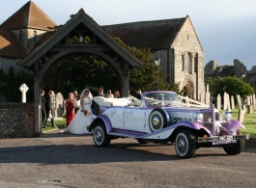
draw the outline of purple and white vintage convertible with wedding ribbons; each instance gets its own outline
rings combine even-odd
[[[244,140],[229,111],[220,116],[213,107],[168,91],[144,92],[141,98],[95,97],[99,116],[88,126],[98,147],[117,138],[134,138],[140,144],[174,143],[181,158],[191,158],[197,148],[222,147],[227,154],[242,152]]]

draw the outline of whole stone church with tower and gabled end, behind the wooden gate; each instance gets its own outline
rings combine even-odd
[[[54,26],[33,1],[27,2],[0,25],[0,69],[21,68],[17,63],[35,50],[37,42],[43,43],[43,36]],[[186,95],[204,100],[204,51],[189,16],[100,27],[129,46],[150,48],[170,85],[180,83]]]

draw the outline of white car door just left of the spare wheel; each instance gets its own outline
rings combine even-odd
[[[125,110],[125,127],[127,130],[146,130],[146,109],[139,107],[128,107]]]

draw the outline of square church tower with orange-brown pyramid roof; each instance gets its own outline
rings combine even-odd
[[[25,54],[28,54],[43,34],[56,25],[33,1],[29,1],[4,21],[0,25],[0,30],[6,30],[5,33],[12,32]]]

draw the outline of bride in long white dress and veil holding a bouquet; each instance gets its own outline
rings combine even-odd
[[[86,134],[89,133],[87,126],[93,121],[93,111],[91,104],[93,101],[93,95],[89,89],[84,89],[80,97],[80,108],[71,121],[70,125],[63,131],[72,134]],[[90,114],[85,116],[85,112],[90,111]]]

